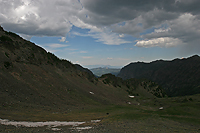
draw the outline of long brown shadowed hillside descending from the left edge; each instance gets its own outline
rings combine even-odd
[[[0,29],[1,109],[68,110],[85,105],[124,104],[128,93],[115,89],[98,82],[88,69]]]

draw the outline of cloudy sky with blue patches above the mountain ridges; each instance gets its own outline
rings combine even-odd
[[[200,55],[200,0],[0,0],[0,25],[85,67]]]

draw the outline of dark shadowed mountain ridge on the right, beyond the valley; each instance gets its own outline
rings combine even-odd
[[[169,96],[200,93],[200,57],[151,63],[131,63],[120,71],[123,79],[146,78],[159,83]]]

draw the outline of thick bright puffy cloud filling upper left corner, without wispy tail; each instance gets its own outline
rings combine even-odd
[[[6,18],[1,19],[0,24],[5,29],[20,34],[31,36],[65,36],[72,27],[68,18],[77,14],[80,3],[74,0],[66,0],[62,1],[62,4],[65,4],[63,6],[59,4],[61,1],[2,1],[0,12]]]

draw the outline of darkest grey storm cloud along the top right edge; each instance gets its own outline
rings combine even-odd
[[[199,13],[199,0],[81,0],[91,15],[88,23],[112,25],[141,16],[145,28],[175,19],[183,13]]]

